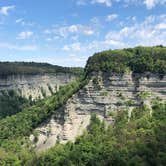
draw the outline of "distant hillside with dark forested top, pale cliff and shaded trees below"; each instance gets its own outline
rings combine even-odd
[[[82,73],[82,68],[47,63],[0,62],[0,119],[55,94]]]

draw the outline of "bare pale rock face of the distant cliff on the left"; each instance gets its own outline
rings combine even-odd
[[[74,80],[76,76],[68,73],[43,75],[12,75],[0,77],[0,90],[16,90],[25,97],[43,98]]]

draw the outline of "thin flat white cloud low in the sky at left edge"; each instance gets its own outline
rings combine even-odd
[[[16,50],[16,51],[35,51],[37,50],[36,45],[14,45],[9,43],[0,43],[0,48]]]

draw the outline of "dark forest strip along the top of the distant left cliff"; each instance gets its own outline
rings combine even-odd
[[[44,73],[71,73],[80,75],[83,69],[79,67],[61,67],[48,63],[35,62],[0,62],[0,76],[13,74],[44,74]]]

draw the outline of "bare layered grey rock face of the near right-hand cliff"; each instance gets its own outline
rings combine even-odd
[[[159,75],[132,73],[92,76],[88,85],[36,129],[39,134],[36,150],[48,149],[57,141],[74,141],[88,127],[93,112],[106,124],[112,124],[118,110],[128,110],[130,120],[135,106],[146,104],[150,109],[156,98],[166,101],[166,76],[162,79]],[[34,140],[33,135],[30,138]]]

